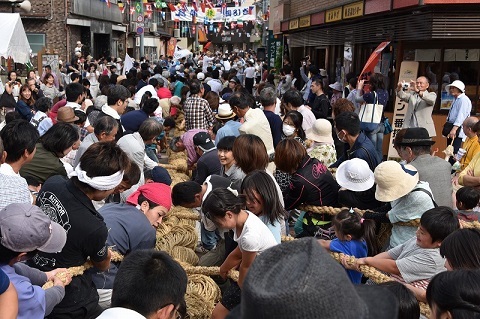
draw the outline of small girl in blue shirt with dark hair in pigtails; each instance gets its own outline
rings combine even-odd
[[[343,253],[355,258],[375,256],[378,252],[375,242],[375,222],[363,219],[353,209],[344,209],[333,218],[333,227],[337,238],[334,240],[320,239],[322,247],[337,253]],[[354,284],[360,284],[362,273],[347,270],[348,277]]]

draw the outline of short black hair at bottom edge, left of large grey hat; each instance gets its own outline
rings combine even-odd
[[[157,310],[185,301],[187,274],[166,252],[134,250],[120,264],[113,282],[112,307],[148,317]]]

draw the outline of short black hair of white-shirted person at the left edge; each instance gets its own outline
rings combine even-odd
[[[9,114],[9,113],[7,113]],[[7,163],[18,161],[25,150],[32,153],[39,138],[37,129],[25,120],[14,120],[2,129],[0,137],[7,152]]]

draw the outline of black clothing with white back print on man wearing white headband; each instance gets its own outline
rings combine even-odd
[[[38,197],[39,206],[51,220],[67,231],[67,242],[60,253],[37,253],[30,265],[42,271],[54,268],[81,266],[87,258],[101,262],[107,258],[107,227],[102,216],[95,210],[92,201],[72,181],[56,175],[42,186]],[[52,311],[68,314],[84,308],[89,317],[98,305],[98,293],[88,274],[75,276],[65,286],[65,298]]]

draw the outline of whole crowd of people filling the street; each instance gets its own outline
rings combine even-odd
[[[382,74],[368,89],[354,76],[329,83],[307,57],[298,89],[287,58],[275,75],[249,52],[123,67],[84,58],[80,43],[60,75],[46,66],[21,85],[9,73],[0,97],[0,317],[185,317],[186,273],[153,250],[172,205],[198,212],[199,265],[220,267],[214,319],[416,319],[418,301],[433,318],[480,315],[480,231],[459,222],[480,215],[480,122],[461,81],[447,86],[446,159],[432,155],[428,78],[396,86],[409,104],[397,162],[384,160],[384,123],[359,116],[365,105],[385,109]],[[186,152],[191,181],[171,187],[159,165],[167,148]],[[331,216],[304,205],[347,209]],[[380,243],[383,224],[392,229]],[[282,244],[289,235],[299,239]],[[111,261],[109,247],[125,260]],[[327,252],[356,262],[339,265]],[[84,274],[57,276],[87,260]],[[371,285],[362,265],[395,283]],[[226,279],[231,269],[238,282]],[[47,281],[53,287],[41,289]]]

